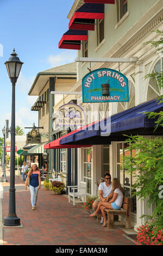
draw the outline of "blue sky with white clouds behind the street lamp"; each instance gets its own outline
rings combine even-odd
[[[28,96],[28,92],[38,72],[74,61],[76,51],[58,48],[62,35],[68,30],[67,15],[73,2],[0,1],[0,130],[5,119],[9,119],[11,125],[11,82],[4,63],[14,48],[24,63],[16,83],[16,125],[26,133],[29,130],[24,127],[38,125],[38,113],[30,111],[37,97]]]

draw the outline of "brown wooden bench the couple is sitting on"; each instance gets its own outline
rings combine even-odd
[[[124,197],[123,204],[121,210],[110,210],[105,209],[105,212],[108,215],[108,229],[113,228],[114,226],[114,216],[115,215],[125,215],[125,228],[131,228],[131,198],[130,197]],[[100,222],[101,215],[97,216],[97,222]],[[123,222],[118,222],[123,223]]]

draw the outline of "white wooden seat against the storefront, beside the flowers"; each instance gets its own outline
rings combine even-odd
[[[79,186],[67,186],[68,187],[68,202],[71,202],[71,197],[73,200],[73,205],[76,205],[76,200],[75,198],[81,198],[84,197],[84,200],[78,201],[78,203],[84,203],[86,202],[86,182],[80,181]],[[70,192],[70,188],[72,192]],[[77,192],[75,192],[77,190]]]

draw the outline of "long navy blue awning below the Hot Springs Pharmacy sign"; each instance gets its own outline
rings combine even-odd
[[[73,135],[67,136],[60,140],[60,144],[73,143],[91,143],[107,144],[109,141],[118,141],[123,137],[123,133],[156,135],[153,133],[155,119],[149,119],[144,112],[163,111],[163,102],[159,103],[158,99],[147,101],[126,111],[114,114],[109,118],[97,121],[84,130],[78,130]],[[109,120],[110,119],[110,120]],[[110,123],[111,121],[111,123]],[[108,127],[110,124],[110,128]],[[159,134],[163,135],[163,128],[158,129]],[[108,135],[109,132],[109,135]],[[156,131],[157,132],[157,131]],[[106,143],[105,143],[106,142]]]

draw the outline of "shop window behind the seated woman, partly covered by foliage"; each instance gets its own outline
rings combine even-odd
[[[134,192],[131,189],[131,186],[134,184],[134,178],[132,175],[127,174],[124,170],[123,164],[123,156],[134,154],[134,152],[130,152],[128,149],[128,144],[125,142],[117,142],[117,178],[120,180],[121,185],[124,188],[125,196],[131,197]],[[136,196],[131,197],[131,211],[136,214]]]

